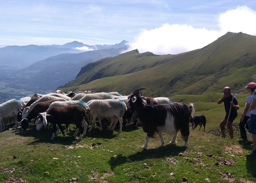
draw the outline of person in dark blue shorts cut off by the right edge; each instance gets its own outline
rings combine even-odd
[[[253,75],[256,76],[256,75]],[[254,155],[256,156],[256,89],[254,90],[252,94],[252,103],[249,108],[249,112],[251,113],[250,118],[248,120],[249,129],[248,132],[252,134],[252,145],[253,151],[251,153],[248,153],[248,155]]]

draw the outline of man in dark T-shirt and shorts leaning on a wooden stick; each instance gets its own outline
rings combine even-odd
[[[217,104],[221,104],[222,102],[224,102],[224,107],[225,107],[225,111],[226,111],[225,118],[220,123],[221,133],[222,133],[222,137],[223,137],[229,110],[231,108],[228,123],[227,123],[227,129],[228,129],[230,138],[233,139],[234,138],[233,121],[237,117],[237,110],[239,109],[239,105],[238,105],[236,97],[234,97],[233,102],[232,102],[233,96],[231,95],[231,89],[229,87],[225,87],[223,89],[223,93],[224,93],[223,97],[221,99],[219,99],[217,102]]]

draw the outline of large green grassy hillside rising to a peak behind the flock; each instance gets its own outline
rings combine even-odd
[[[255,74],[255,46],[256,36],[228,32],[202,49],[181,55],[145,56],[135,50],[87,65],[84,74],[59,89],[129,94],[144,87],[148,96],[207,94],[221,92],[224,86],[240,90]],[[87,81],[91,82],[83,84]]]

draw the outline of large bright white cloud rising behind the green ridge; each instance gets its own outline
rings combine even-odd
[[[129,43],[126,51],[138,49],[140,53],[150,51],[157,55],[178,54],[202,48],[228,31],[256,35],[256,11],[246,6],[220,14],[218,21],[219,30],[179,24],[163,24],[155,29],[142,30],[135,41]]]

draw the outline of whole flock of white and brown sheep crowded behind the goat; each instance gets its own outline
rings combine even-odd
[[[129,96],[122,96],[118,92],[67,92],[57,90],[54,93],[40,95],[35,93],[32,97],[21,99],[11,99],[0,105],[0,132],[8,129],[7,124],[14,122],[13,128],[21,126],[26,130],[29,123],[34,119],[36,129],[47,127],[49,123],[53,125],[53,136],[55,137],[56,126],[57,135],[61,131],[63,137],[65,133],[61,124],[66,125],[66,131],[69,124],[76,125],[74,137],[80,131],[79,141],[85,136],[88,122],[90,121],[90,132],[96,125],[96,118],[100,125],[100,131],[103,130],[101,120],[109,119],[108,130],[113,130],[120,123],[118,133],[122,132],[123,119],[126,118],[127,124],[132,118],[132,111],[129,105]],[[171,103],[167,97],[143,97],[144,104],[165,104]]]

